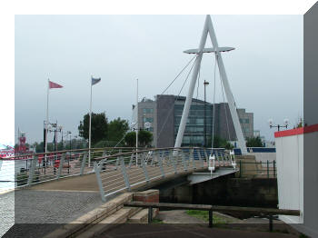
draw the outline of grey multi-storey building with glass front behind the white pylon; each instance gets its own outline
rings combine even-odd
[[[184,111],[184,96],[156,95],[154,100],[144,98],[138,103],[139,128],[146,129],[144,123],[151,124],[148,129],[154,135],[153,146],[172,147]],[[134,108],[134,107],[133,107]],[[215,111],[214,111],[215,109]],[[253,113],[237,109],[245,138],[253,137]],[[213,118],[214,114],[214,118]],[[235,141],[234,124],[226,103],[205,104],[206,144],[211,143],[211,134]],[[214,128],[213,128],[214,124]],[[193,99],[188,121],[185,126],[182,146],[204,145],[204,101]]]

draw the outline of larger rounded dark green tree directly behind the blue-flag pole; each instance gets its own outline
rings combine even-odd
[[[95,144],[107,137],[108,121],[105,113],[94,114],[92,113],[92,143]],[[88,139],[89,137],[89,114],[84,114],[83,121],[78,126],[79,136]]]

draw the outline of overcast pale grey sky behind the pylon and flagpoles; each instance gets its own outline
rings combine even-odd
[[[193,57],[183,51],[199,45],[204,17],[16,15],[15,134],[19,127],[27,142],[43,140],[48,77],[64,86],[50,90],[49,120],[73,135],[89,111],[92,74],[102,77],[93,87],[93,112],[131,120],[135,79],[140,99],[161,94]],[[273,140],[269,118],[280,124],[289,118],[293,125],[303,115],[303,15],[212,15],[212,20],[219,45],[235,47],[223,57],[236,105],[252,112],[254,130]],[[203,80],[214,80],[213,67],[214,55],[204,55],[201,99]],[[178,94],[184,78],[167,93]],[[187,90],[188,84],[182,94]],[[223,101],[219,86],[216,91],[217,102]]]

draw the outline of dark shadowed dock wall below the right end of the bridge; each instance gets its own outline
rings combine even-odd
[[[276,207],[276,179],[234,178],[233,174],[194,185],[160,186],[160,202]]]

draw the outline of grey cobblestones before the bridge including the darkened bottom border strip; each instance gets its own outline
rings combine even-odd
[[[101,205],[95,192],[15,191],[15,226],[4,237],[43,237]]]

